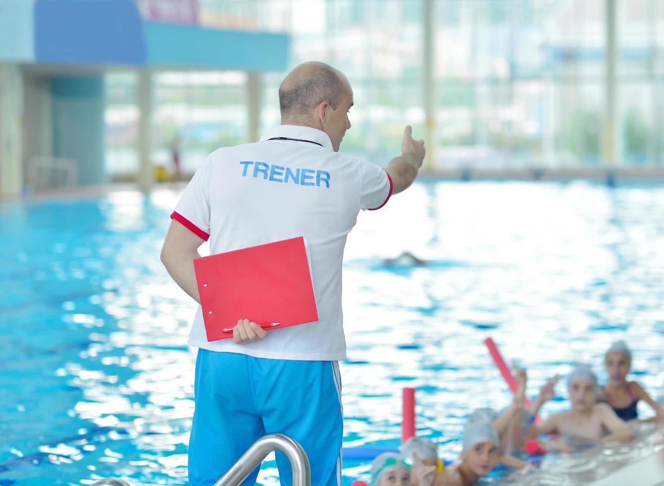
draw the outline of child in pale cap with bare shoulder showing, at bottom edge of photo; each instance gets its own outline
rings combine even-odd
[[[427,461],[428,459],[428,461]],[[438,458],[436,457],[436,460]],[[427,461],[425,463],[425,461]],[[463,434],[463,451],[454,464],[438,470],[432,457],[412,451],[412,486],[469,486],[500,461],[499,438],[491,424],[470,424]]]

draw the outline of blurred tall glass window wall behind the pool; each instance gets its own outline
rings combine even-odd
[[[438,173],[664,168],[661,0],[136,0],[136,6],[151,22],[289,38],[287,68],[253,78],[250,70],[209,66],[153,72],[150,157],[161,168],[157,179],[173,175],[175,165],[185,177],[216,147],[255,139],[252,123],[260,130],[279,123],[278,86],[305,60],[347,74],[355,106],[341,149],[378,164],[396,154],[410,123],[428,141],[427,168]],[[133,181],[141,165],[139,73],[119,67],[103,80],[104,173],[108,181]]]

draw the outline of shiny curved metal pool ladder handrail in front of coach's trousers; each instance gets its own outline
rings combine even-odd
[[[311,486],[307,453],[296,440],[285,434],[268,434],[258,439],[214,486],[239,485],[273,451],[281,452],[288,458],[293,471],[293,486]]]

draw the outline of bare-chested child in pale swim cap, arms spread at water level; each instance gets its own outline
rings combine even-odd
[[[560,412],[534,424],[530,437],[556,432],[588,444],[627,442],[633,434],[608,404],[598,403],[597,377],[589,366],[576,366],[568,379],[572,410]],[[605,434],[605,430],[608,434]]]

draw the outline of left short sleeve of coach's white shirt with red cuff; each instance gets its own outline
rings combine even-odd
[[[207,241],[210,238],[210,200],[208,197],[207,167],[209,159],[201,165],[185,188],[171,218]]]

